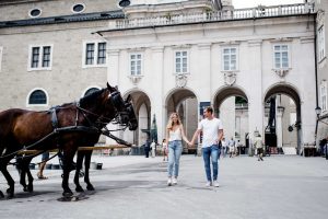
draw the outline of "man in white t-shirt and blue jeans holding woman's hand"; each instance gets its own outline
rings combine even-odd
[[[219,118],[213,116],[213,108],[208,106],[203,111],[204,118],[198,124],[198,128],[194,134],[190,145],[195,143],[195,140],[202,131],[202,158],[204,162],[204,170],[207,174],[207,186],[219,187],[218,174],[219,174],[219,158],[220,148],[219,142],[223,138],[223,126]],[[212,161],[213,177],[211,175]],[[212,182],[213,180],[213,182]]]

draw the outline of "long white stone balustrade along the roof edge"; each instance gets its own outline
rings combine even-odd
[[[285,4],[274,7],[257,7],[250,9],[236,9],[233,11],[203,12],[192,14],[162,15],[152,18],[125,19],[116,21],[115,28],[137,28],[145,26],[165,26],[186,23],[215,22],[229,20],[244,20],[272,16],[302,15],[314,13],[309,3]]]

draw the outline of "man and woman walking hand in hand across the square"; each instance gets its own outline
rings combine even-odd
[[[167,165],[167,185],[176,185],[179,172],[179,159],[183,152],[183,141],[185,140],[189,147],[194,146],[195,140],[202,132],[202,158],[204,161],[204,170],[207,175],[207,186],[219,187],[219,158],[220,141],[223,138],[223,127],[219,118],[213,116],[213,108],[208,106],[203,111],[203,119],[198,124],[198,128],[194,134],[191,141],[185,135],[184,126],[177,113],[169,116],[166,126],[166,143],[168,145],[168,165]],[[212,174],[211,165],[212,162]]]

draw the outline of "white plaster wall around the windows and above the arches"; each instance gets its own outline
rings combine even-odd
[[[194,24],[159,28],[104,32],[109,48],[119,48],[121,54],[130,49],[144,50],[144,77],[137,84],[143,89],[152,102],[152,112],[164,113],[163,100],[176,87],[174,51],[189,51],[190,73],[186,89],[192,91],[198,102],[212,101],[215,92],[224,88],[221,72],[221,49],[224,46],[238,47],[237,78],[234,87],[242,89],[249,103],[248,131],[258,129],[263,134],[263,96],[277,84],[289,84],[297,91],[302,101],[303,142],[314,141],[314,54],[312,23],[306,18],[279,18],[251,21]],[[270,27],[269,27],[270,26]],[[272,71],[272,45],[288,43],[291,47],[291,69],[280,78]],[[154,60],[154,47],[164,47],[163,65]],[[120,60],[124,59],[121,56]],[[160,59],[156,59],[160,60]],[[148,66],[150,65],[150,66]],[[153,76],[153,69],[163,66],[163,80]],[[120,64],[119,68],[127,68]],[[120,72],[120,83],[129,85],[126,73]],[[153,81],[156,83],[153,83]],[[160,89],[162,88],[162,89]],[[127,88],[128,89],[128,88]],[[161,96],[163,96],[161,101]],[[159,107],[157,105],[162,105]],[[154,110],[153,110],[154,107]],[[308,112],[308,113],[305,113]],[[163,118],[163,117],[162,117]],[[164,127],[164,124],[157,124]],[[248,132],[247,131],[247,132]]]

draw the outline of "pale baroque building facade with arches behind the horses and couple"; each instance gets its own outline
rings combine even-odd
[[[208,105],[226,138],[246,145],[258,131],[269,139],[271,124],[269,146],[301,153],[315,145],[313,3],[239,10],[231,1],[119,3],[2,1],[0,110],[47,110],[109,81],[132,96],[139,129],[118,135],[139,146],[153,117],[161,141],[175,111],[190,138]]]

